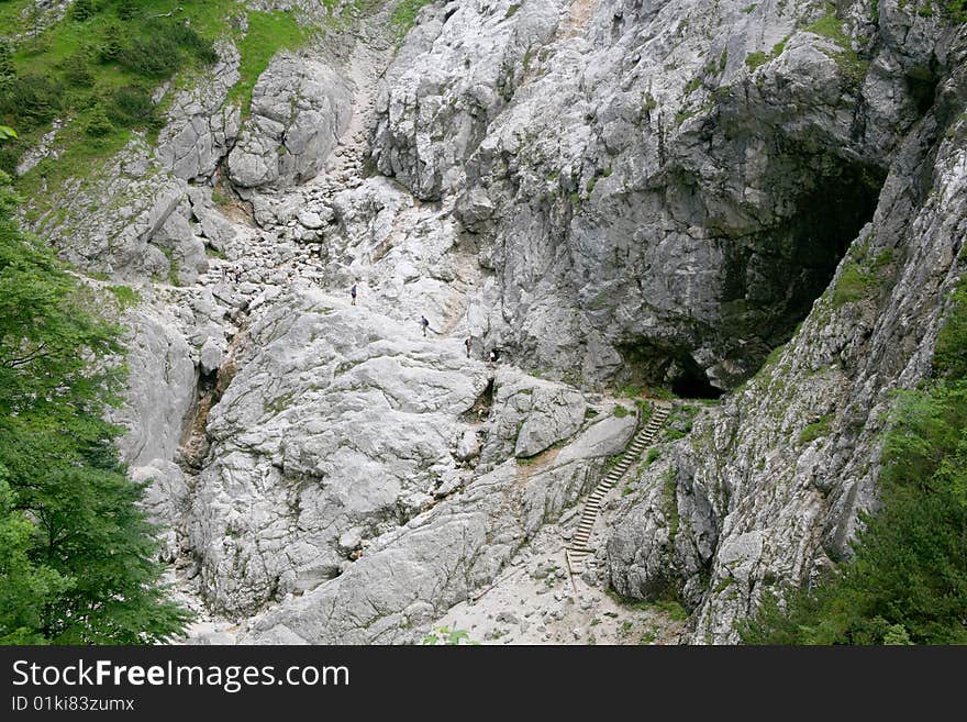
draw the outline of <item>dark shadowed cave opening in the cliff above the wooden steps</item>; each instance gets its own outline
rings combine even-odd
[[[722,238],[724,279],[718,322],[696,320],[690,327],[682,326],[679,337],[627,340],[618,346],[624,359],[615,378],[619,385],[718,399],[753,376],[771,351],[792,337],[872,219],[886,179],[880,168],[843,158],[823,157],[812,165],[822,170],[802,174],[801,157],[785,170],[776,169],[788,175],[798,168],[803,175],[805,188],[796,198],[791,218],[755,234]],[[718,356],[712,378],[694,360],[700,346],[713,348]]]

